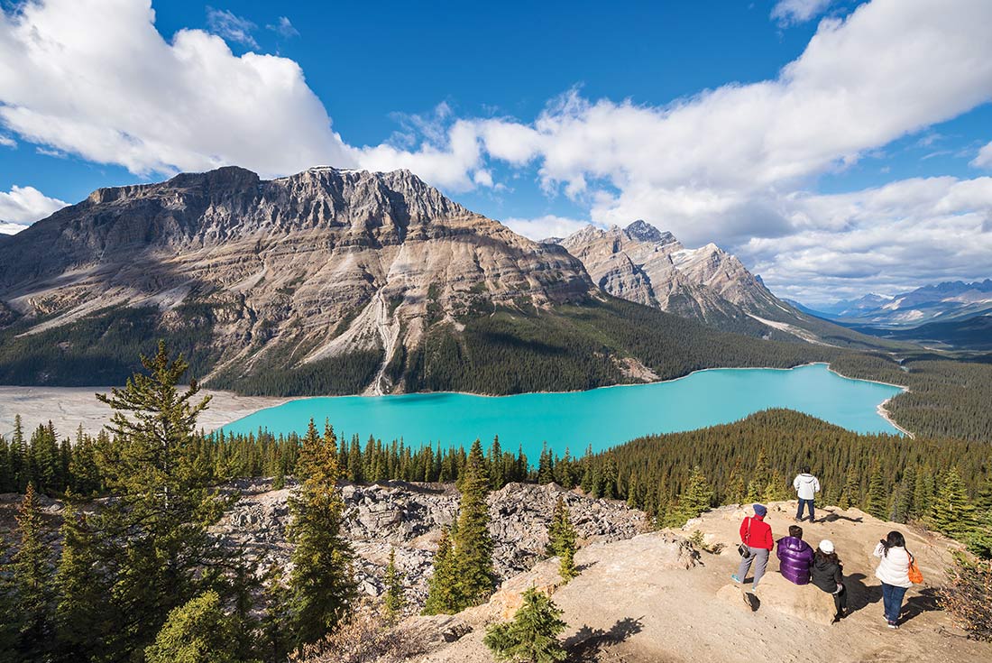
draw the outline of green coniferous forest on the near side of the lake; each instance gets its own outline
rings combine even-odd
[[[24,494],[16,525],[2,537],[0,640],[13,661],[165,661],[208,631],[217,650],[236,643],[217,660],[286,660],[332,631],[355,600],[352,553],[340,535],[341,480],[455,481],[469,491],[469,506],[512,481],[555,481],[625,500],[666,526],[719,504],[788,498],[792,476],[808,464],[824,503],[920,522],[992,557],[992,466],[977,403],[962,399],[960,420],[942,417],[936,405],[974,387],[988,365],[908,363],[909,372],[895,370],[913,376],[919,391],[906,395],[915,400],[902,412],[956,437],[860,435],[771,410],[598,454],[546,449],[528,459],[498,438],[470,451],[339,440],[331,422],[310,422],[305,436],[205,434],[196,415],[208,399],[195,383],[177,387],[188,366],[162,343],[144,359],[144,372],[102,398],[114,413],[109,430],[95,437],[52,424],[25,431],[18,421],[9,440],[0,438],[0,492]],[[884,369],[883,358],[869,355],[843,365],[848,373]],[[964,421],[974,427],[957,428]],[[288,575],[249,568],[212,545],[209,527],[227,499],[219,486],[257,476],[302,482],[291,504],[296,566]],[[43,516],[41,494],[65,500],[58,527]],[[477,604],[492,590],[486,521],[484,508],[463,510],[442,539],[429,611]],[[143,653],[135,659],[135,652]]]

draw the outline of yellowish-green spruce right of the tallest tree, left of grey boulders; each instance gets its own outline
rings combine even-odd
[[[304,481],[290,496],[293,521],[287,534],[295,546],[289,611],[299,647],[320,639],[346,618],[358,588],[352,569],[354,555],[344,534],[345,504],[337,487],[337,455],[317,435],[312,420],[297,465]]]

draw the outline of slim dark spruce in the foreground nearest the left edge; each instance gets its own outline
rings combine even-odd
[[[17,514],[21,545],[13,557],[15,614],[19,618],[17,650],[29,661],[44,660],[53,641],[51,552],[34,483],[28,483]]]

